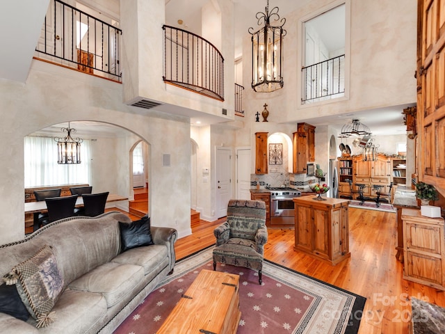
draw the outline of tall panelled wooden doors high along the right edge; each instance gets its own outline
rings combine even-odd
[[[419,180],[445,196],[445,0],[418,0]]]

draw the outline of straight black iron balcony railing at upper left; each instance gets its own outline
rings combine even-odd
[[[35,51],[38,58],[121,81],[122,31],[59,0],[51,0]]]

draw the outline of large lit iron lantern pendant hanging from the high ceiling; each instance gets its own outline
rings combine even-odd
[[[265,8],[266,13],[258,12],[258,25],[264,20],[264,27],[253,33],[253,28],[248,29],[252,35],[252,88],[255,92],[273,92],[283,88],[283,37],[286,31],[282,28],[286,23],[283,17],[280,20],[278,7],[272,8],[269,13],[269,0]],[[280,25],[271,26],[270,18],[275,22],[280,20]]]

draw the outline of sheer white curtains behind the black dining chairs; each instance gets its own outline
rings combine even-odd
[[[53,138],[24,138],[25,188],[91,181],[90,141],[81,144],[81,164],[57,164],[57,145]]]

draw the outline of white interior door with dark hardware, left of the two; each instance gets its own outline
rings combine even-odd
[[[230,187],[230,175],[232,168],[230,167],[230,159],[232,156],[231,148],[216,148],[216,164],[215,164],[215,201],[216,201],[216,218],[227,216],[227,205],[232,197]]]

